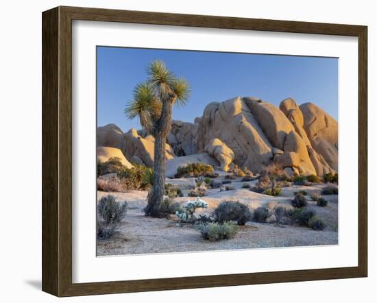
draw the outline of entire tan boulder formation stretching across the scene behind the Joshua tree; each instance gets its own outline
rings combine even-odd
[[[144,130],[98,128],[98,146],[117,147],[126,159],[152,166],[154,137]],[[166,175],[204,162],[224,171],[234,164],[260,173],[272,162],[287,172],[324,175],[338,169],[338,123],[311,103],[284,99],[279,108],[256,97],[211,102],[194,123],[172,121],[165,149]]]

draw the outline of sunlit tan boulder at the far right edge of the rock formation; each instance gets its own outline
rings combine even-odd
[[[338,123],[313,103],[300,105],[304,116],[304,129],[312,147],[328,163],[338,170]]]

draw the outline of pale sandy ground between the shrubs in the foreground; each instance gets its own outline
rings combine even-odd
[[[253,184],[253,182],[249,182]],[[206,197],[202,197],[208,203],[209,208],[204,212],[210,212],[224,199],[237,199],[247,203],[250,208],[264,205],[269,208],[280,204],[290,207],[291,197],[295,191],[305,190],[320,191],[322,184],[313,186],[289,186],[283,189],[281,197],[271,197],[254,193],[248,189],[241,189],[245,182],[232,182],[236,189],[233,191],[219,192],[219,189],[211,189]],[[338,243],[337,195],[327,195],[328,206],[321,208],[308,197],[308,204],[317,211],[321,219],[328,226],[326,230],[315,231],[311,228],[300,226],[276,226],[275,223],[248,222],[241,226],[234,239],[226,241],[210,242],[202,239],[195,225],[179,225],[175,216],[171,219],[154,219],[145,217],[143,208],[146,205],[146,191],[130,191],[129,193],[111,193],[119,201],[127,201],[129,206],[127,216],[121,222],[117,234],[108,241],[98,242],[98,254],[152,254],[163,252],[195,252],[208,250],[236,250],[261,247],[289,247],[306,245],[336,245]],[[98,192],[98,199],[108,193]],[[178,202],[193,200],[191,197],[176,198]]]

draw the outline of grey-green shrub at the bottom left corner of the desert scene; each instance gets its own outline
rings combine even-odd
[[[117,202],[114,196],[107,195],[99,200],[97,212],[106,224],[117,223],[127,213],[127,202]]]

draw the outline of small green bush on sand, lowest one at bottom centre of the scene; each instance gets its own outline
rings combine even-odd
[[[208,223],[201,227],[202,237],[209,241],[232,239],[237,231],[238,227],[233,222]]]

